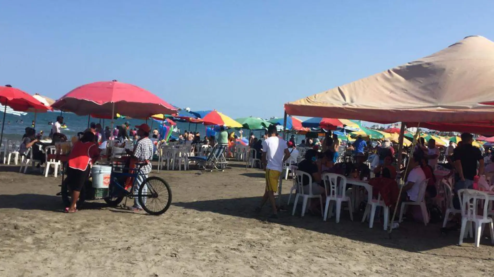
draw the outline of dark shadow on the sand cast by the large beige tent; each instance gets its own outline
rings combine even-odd
[[[288,200],[287,196],[283,197],[284,203]],[[255,218],[266,220],[269,215],[269,204],[263,208],[260,214],[254,212],[258,207],[261,197],[220,199],[198,202],[181,202],[173,203],[177,207],[195,209],[198,211],[216,212],[225,215],[232,215],[244,218]],[[293,203],[293,198],[292,198]],[[275,223],[306,229],[322,234],[330,234],[347,238],[354,241],[374,243],[385,247],[402,249],[410,252],[421,252],[431,249],[437,249],[455,244],[459,236],[459,231],[452,231],[448,235],[442,235],[440,232],[441,224],[428,224],[424,226],[415,222],[403,222],[400,228],[393,230],[391,236],[383,230],[383,224],[374,222],[373,229],[369,228],[369,223],[361,223],[362,211],[354,214],[354,221],[350,221],[348,210],[342,210],[339,223],[335,223],[334,217],[324,222],[321,216],[310,215],[306,213],[300,217],[301,204],[297,205],[294,216],[291,216],[293,205],[288,207],[288,212],[280,212],[280,219]],[[473,240],[468,239],[465,242]],[[491,259],[489,259],[491,260]]]

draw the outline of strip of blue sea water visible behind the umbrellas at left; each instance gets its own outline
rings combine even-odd
[[[36,125],[35,130],[39,133],[41,130],[43,131],[44,136],[48,136],[51,131],[51,125],[49,122],[55,122],[57,116],[60,115],[60,111],[58,112],[45,112],[45,113],[37,113],[36,114]],[[67,129],[62,129],[62,133],[65,134],[68,138],[76,135],[78,132],[84,131],[88,126],[88,116],[79,116],[75,113],[63,112],[62,116],[64,117],[64,123],[67,125]],[[3,112],[0,112],[0,124],[3,118]],[[13,139],[20,140],[22,135],[24,134],[24,130],[26,127],[31,127],[32,121],[35,120],[34,113],[27,113],[26,115],[16,116],[12,114],[5,115],[5,126],[3,129],[3,138],[4,139]],[[133,118],[118,118],[114,120],[114,127],[118,125],[122,125],[128,121],[130,126],[134,128],[135,125],[140,125],[142,123],[146,123],[146,120],[141,119],[133,119]],[[90,118],[89,122],[101,123],[103,126],[110,126],[110,119],[98,119],[98,118]],[[159,124],[162,122],[148,119],[147,124],[151,126],[154,130],[158,128]],[[195,123],[185,123],[185,122],[176,122],[177,128],[180,130],[180,133],[184,133],[187,131],[199,132],[201,137],[204,138],[206,136],[206,127],[203,124],[195,124]],[[248,137],[250,133],[254,133],[254,136],[259,138],[264,134],[264,131],[250,131],[250,130],[242,130],[243,136]],[[240,135],[239,130],[235,130],[237,136]],[[173,136],[178,136],[177,133],[173,133]],[[300,141],[303,138],[298,138]]]

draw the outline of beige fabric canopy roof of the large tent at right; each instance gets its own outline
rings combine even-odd
[[[494,125],[494,42],[468,36],[417,61],[285,104],[289,115]],[[425,126],[423,126],[425,127]]]

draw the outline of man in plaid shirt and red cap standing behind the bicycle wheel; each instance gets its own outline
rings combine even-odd
[[[151,132],[151,128],[147,124],[141,124],[139,126],[135,126],[135,128],[137,128],[137,136],[139,136],[139,139],[134,146],[131,158],[137,163],[146,163],[146,165],[141,167],[141,174],[136,177],[137,181],[132,188],[134,195],[137,195],[139,185],[146,180],[148,173],[151,172],[151,160],[153,159],[154,145],[153,141],[149,139],[149,132]],[[147,186],[144,186],[142,193],[145,194],[147,191]],[[134,198],[134,206],[129,207],[129,209],[134,211],[142,210],[141,204],[142,203],[139,203],[139,199],[136,197]]]

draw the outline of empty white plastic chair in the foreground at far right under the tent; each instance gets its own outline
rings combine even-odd
[[[473,189],[462,189],[463,194],[460,197],[461,200],[461,230],[460,230],[460,239],[458,245],[463,243],[463,238],[466,237],[465,229],[471,229],[471,224],[475,223],[475,247],[479,247],[480,237],[482,233],[484,233],[484,225],[486,223],[489,224],[490,232],[491,232],[491,243],[494,244],[494,224],[493,219],[488,217],[488,200],[489,196],[487,193],[473,190]],[[481,200],[484,202],[482,215],[478,215],[478,203],[477,201]]]

